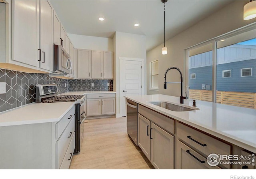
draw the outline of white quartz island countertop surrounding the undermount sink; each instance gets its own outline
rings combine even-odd
[[[199,110],[179,112],[171,111],[149,102],[166,101],[181,105],[180,97],[168,95],[128,95],[125,97],[256,153],[256,109],[196,100],[196,108],[199,108]],[[193,101],[184,100],[184,105],[192,107],[192,104]]]

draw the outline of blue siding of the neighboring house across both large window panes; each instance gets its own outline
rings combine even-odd
[[[252,68],[252,76],[241,77],[242,68]],[[256,59],[231,62],[217,65],[216,88],[218,91],[256,92]],[[222,78],[222,70],[231,70],[230,78]],[[191,80],[190,74],[196,74]],[[202,84],[212,86],[212,66],[189,69],[189,87],[191,90],[201,90]]]

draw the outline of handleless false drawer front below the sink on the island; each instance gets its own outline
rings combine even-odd
[[[156,111],[148,109],[142,105],[139,105],[138,111],[141,115],[150,119],[152,122],[156,123],[162,129],[168,131],[169,133],[174,134],[174,120],[173,119],[166,117],[165,115],[162,115],[160,113],[157,113]]]

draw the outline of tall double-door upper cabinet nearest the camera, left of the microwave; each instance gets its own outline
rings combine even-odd
[[[12,60],[52,71],[52,44],[53,8],[50,3],[12,1]]]

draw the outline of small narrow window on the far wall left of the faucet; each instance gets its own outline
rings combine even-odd
[[[158,90],[158,60],[150,62],[150,90]]]

